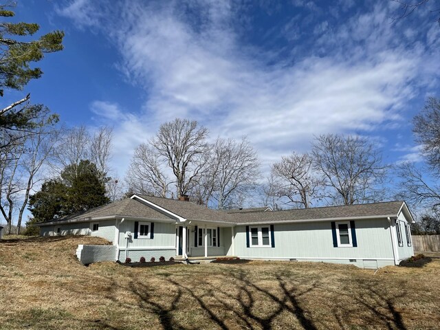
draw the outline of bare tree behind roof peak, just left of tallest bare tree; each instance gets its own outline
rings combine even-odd
[[[153,146],[140,144],[135,148],[131,164],[126,173],[129,190],[146,195],[166,197],[168,186],[173,182],[168,179],[166,159],[160,157]]]

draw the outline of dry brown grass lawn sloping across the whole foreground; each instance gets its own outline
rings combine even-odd
[[[96,237],[0,241],[0,329],[437,329],[440,261],[421,268],[252,261],[85,267]]]

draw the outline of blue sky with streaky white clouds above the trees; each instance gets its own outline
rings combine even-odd
[[[439,96],[430,1],[19,1],[17,21],[65,31],[32,93],[67,126],[114,126],[113,170],[162,122],[248,136],[267,170],[314,135],[359,134],[388,163],[420,160],[412,117]]]

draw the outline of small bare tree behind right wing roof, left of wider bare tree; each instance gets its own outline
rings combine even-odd
[[[313,157],[308,153],[292,153],[272,164],[271,171],[280,181],[278,197],[287,197],[288,202],[299,208],[309,208],[318,198],[323,181],[312,170]]]

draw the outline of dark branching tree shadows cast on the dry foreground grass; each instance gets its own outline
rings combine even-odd
[[[225,330],[239,326],[270,330],[285,325],[280,318],[291,316],[298,321],[292,328],[314,330],[336,324],[342,329],[366,326],[406,330],[401,313],[395,307],[395,301],[404,298],[404,294],[390,297],[379,283],[359,283],[359,289],[349,292],[344,290],[343,283],[341,289],[331,289],[319,281],[296,285],[292,276],[277,275],[270,278],[272,284],[260,285],[246,272],[237,270],[216,274],[216,281],[228,283],[228,288],[222,289],[210,283],[210,278],[195,283],[190,278],[172,274],[160,276],[165,285],[152,285],[137,276],[130,274],[129,281],[123,285],[113,282],[109,298],[116,303],[115,308],[136,307],[153,314],[163,329]],[[133,303],[118,299],[117,292],[113,291],[117,287],[131,292],[137,299]],[[333,315],[327,313],[327,319],[320,316],[318,309],[322,306],[312,305],[308,296],[313,292],[318,303],[325,302],[325,309],[333,311]],[[331,297],[328,302],[320,298],[325,294]],[[201,318],[193,318],[195,309],[201,311]]]

